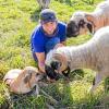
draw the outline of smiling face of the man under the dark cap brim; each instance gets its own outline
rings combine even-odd
[[[48,35],[52,35],[57,28],[57,22],[44,23],[43,28]]]

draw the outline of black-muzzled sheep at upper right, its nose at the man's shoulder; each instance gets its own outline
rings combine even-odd
[[[76,37],[78,35],[94,34],[104,26],[109,25],[109,0],[97,5],[94,12],[75,12],[66,24],[66,36]]]

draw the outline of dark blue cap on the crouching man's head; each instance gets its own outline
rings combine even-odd
[[[48,23],[57,21],[55,11],[50,9],[45,9],[40,12],[40,22]]]

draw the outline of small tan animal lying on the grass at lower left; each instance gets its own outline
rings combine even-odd
[[[3,77],[3,82],[9,85],[10,90],[15,94],[26,94],[37,85],[38,81],[43,78],[38,69],[34,66],[26,66],[24,70],[12,69]],[[38,88],[36,89],[38,93]]]

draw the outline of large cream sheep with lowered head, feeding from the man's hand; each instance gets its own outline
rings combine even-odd
[[[93,93],[101,80],[109,76],[109,26],[98,29],[94,37],[83,45],[51,50],[47,55],[45,64],[50,78],[56,78],[57,74],[68,66],[71,71],[76,69],[96,71],[90,88]]]

